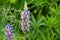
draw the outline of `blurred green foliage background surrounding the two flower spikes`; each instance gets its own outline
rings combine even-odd
[[[0,0],[0,40],[5,40],[7,23],[13,27],[14,40],[23,40],[21,11],[25,1],[30,11],[27,40],[60,40],[60,0]]]

